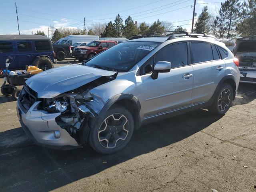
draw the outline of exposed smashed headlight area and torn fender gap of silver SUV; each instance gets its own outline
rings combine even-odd
[[[60,113],[55,118],[56,123],[82,146],[87,141],[92,123],[98,118],[105,104],[100,96],[92,94],[90,90],[114,80],[116,75],[117,73],[112,76],[102,76],[54,98],[43,98],[38,105],[38,110]]]

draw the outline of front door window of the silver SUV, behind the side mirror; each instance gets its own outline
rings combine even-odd
[[[188,64],[188,47],[186,42],[171,44],[156,53],[155,63],[158,61],[171,62],[172,68]]]

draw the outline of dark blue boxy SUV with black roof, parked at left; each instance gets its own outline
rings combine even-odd
[[[0,35],[0,69],[5,68],[8,56],[13,57],[9,70],[25,69],[26,65],[44,70],[53,68],[52,42],[46,36]]]

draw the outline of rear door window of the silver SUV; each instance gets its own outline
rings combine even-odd
[[[212,61],[212,45],[202,42],[191,42],[191,57],[193,63]]]

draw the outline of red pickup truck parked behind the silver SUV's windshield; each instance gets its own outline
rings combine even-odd
[[[92,41],[86,46],[78,46],[74,48],[73,56],[79,61],[88,60],[93,58],[96,54],[99,54],[100,52],[107,50],[116,44],[116,41],[110,40]]]

